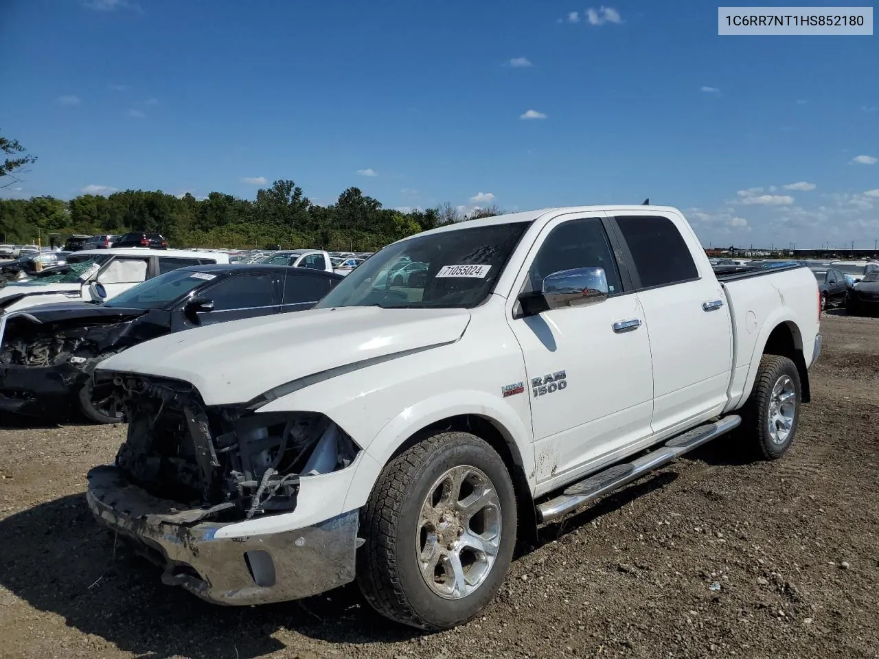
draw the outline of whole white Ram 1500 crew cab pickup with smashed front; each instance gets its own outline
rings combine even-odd
[[[392,286],[401,259],[426,276]],[[393,243],[314,310],[130,348],[99,521],[208,601],[357,580],[426,629],[477,615],[517,537],[723,433],[780,457],[821,348],[796,264],[718,280],[674,208],[581,206]]]

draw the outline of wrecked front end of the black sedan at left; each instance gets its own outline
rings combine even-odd
[[[165,318],[140,309],[96,315],[77,305],[46,307],[4,319],[0,411],[41,420],[67,418],[100,361],[168,331]]]

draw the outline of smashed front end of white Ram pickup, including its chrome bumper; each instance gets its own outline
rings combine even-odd
[[[313,412],[208,407],[180,380],[98,371],[96,385],[111,379],[127,439],[114,466],[91,470],[88,501],[163,568],[164,583],[251,605],[352,581],[358,511],[293,530],[280,517],[295,511],[304,479],[357,458],[360,447],[337,424]],[[268,524],[257,532],[234,528],[260,520]]]

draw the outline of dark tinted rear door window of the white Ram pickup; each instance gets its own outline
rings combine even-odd
[[[690,249],[671,220],[666,217],[618,217],[616,221],[628,243],[643,288],[699,277]]]

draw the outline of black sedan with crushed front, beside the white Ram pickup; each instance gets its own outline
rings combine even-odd
[[[120,421],[112,395],[95,389],[102,359],[184,329],[313,307],[343,279],[278,265],[197,265],[165,272],[103,303],[13,311],[0,337],[0,411],[60,420],[79,409]],[[97,284],[98,294],[104,286]]]

